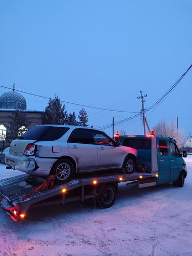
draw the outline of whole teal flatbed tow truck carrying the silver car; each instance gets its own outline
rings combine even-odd
[[[137,172],[87,173],[63,184],[54,184],[53,176],[44,179],[22,174],[0,180],[0,207],[12,220],[20,221],[30,208],[39,205],[93,199],[101,208],[111,207],[120,182],[137,183],[139,188],[170,182],[183,186],[187,170],[182,156],[186,157],[186,152],[175,153],[178,149],[173,139],[156,136],[120,136],[118,139],[122,145],[131,144],[138,150]]]

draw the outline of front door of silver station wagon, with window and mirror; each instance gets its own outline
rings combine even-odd
[[[92,136],[98,149],[98,168],[120,167],[122,152],[115,141],[101,131],[92,130]]]

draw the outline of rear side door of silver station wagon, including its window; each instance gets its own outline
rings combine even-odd
[[[76,160],[77,171],[97,169],[98,151],[89,129],[74,129],[67,144],[70,155]]]

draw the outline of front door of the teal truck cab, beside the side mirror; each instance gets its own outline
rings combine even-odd
[[[171,156],[171,182],[176,181],[180,175],[180,171],[182,168],[182,158],[180,155],[180,151],[177,145],[170,141],[170,156]]]

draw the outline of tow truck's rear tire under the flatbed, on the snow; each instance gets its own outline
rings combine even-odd
[[[111,207],[117,196],[116,187],[112,184],[107,184],[101,187],[99,191],[99,206],[101,208]]]

